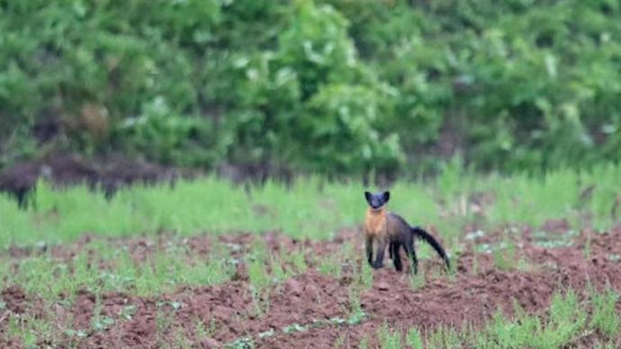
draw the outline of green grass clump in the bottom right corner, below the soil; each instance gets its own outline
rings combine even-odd
[[[619,320],[615,311],[617,294],[613,291],[592,292],[590,300],[578,300],[572,290],[554,294],[550,308],[544,315],[529,315],[516,306],[514,318],[505,317],[499,310],[483,328],[465,326],[437,327],[421,334],[412,327],[404,334],[405,342],[412,348],[541,348],[552,349],[575,345],[582,336],[598,330],[611,343],[617,340]],[[588,309],[592,310],[589,316]],[[399,347],[401,334],[384,325],[378,331],[383,347]]]

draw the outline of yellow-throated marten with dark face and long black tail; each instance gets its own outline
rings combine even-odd
[[[446,268],[450,268],[450,262],[444,248],[438,244],[434,237],[423,228],[411,227],[401,216],[386,210],[386,202],[391,197],[390,192],[365,192],[365,197],[369,203],[365,217],[366,258],[374,269],[383,266],[383,254],[388,245],[394,267],[401,272],[403,265],[399,256],[399,248],[403,246],[412,259],[412,271],[418,273],[419,261],[416,259],[416,251],[414,250],[414,237],[422,237],[434,247],[437,254],[446,262]],[[373,261],[374,241],[377,245],[375,262]]]

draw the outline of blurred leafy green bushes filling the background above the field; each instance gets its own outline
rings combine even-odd
[[[619,18],[617,0],[0,0],[0,166],[618,160]]]

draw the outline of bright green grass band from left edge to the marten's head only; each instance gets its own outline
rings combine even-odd
[[[268,182],[246,192],[225,180],[206,177],[193,182],[135,186],[111,201],[85,186],[53,190],[39,183],[31,209],[18,210],[0,195],[0,247],[58,244],[85,232],[130,236],[162,230],[182,235],[209,231],[283,229],[293,237],[331,237],[364,214],[363,188],[347,183],[307,179],[289,189]]]

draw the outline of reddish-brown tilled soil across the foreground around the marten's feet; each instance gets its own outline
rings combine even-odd
[[[563,224],[549,223],[547,228],[554,230],[554,235],[565,234],[559,226]],[[444,272],[436,255],[422,260],[419,269],[425,272],[426,282],[415,290],[408,275],[395,272],[390,261],[386,261],[383,269],[374,271],[371,288],[361,289],[360,302],[365,318],[355,325],[325,325],[326,321],[347,320],[351,315],[350,291],[356,288],[353,268],[363,263],[362,239],[356,229],[343,230],[337,238],[327,242],[299,241],[269,232],[260,238],[271,253],[304,250],[310,256],[334,255],[344,243],[352,241],[361,251],[360,258],[353,261],[354,264],[344,265],[340,278],[319,273],[310,258],[306,273],[275,285],[268,291],[267,298],[266,294],[258,293],[259,300],[263,300],[259,304],[268,304],[264,311],[257,311],[253,289],[243,268],[235,281],[210,287],[184,287],[157,297],[103,293],[101,311],[96,315],[100,320],[112,321],[103,321],[105,325],[96,330],[93,329],[94,320],[97,320],[94,318],[96,297],[92,292],[79,291],[76,299],[67,303],[69,305],[47,309],[48,317],[63,319],[59,321],[63,323],[59,328],[76,331],[73,335],[63,332],[61,339],[57,339],[60,343],[53,345],[151,348],[185,341],[193,347],[218,347],[248,337],[257,347],[325,348],[332,347],[338,340],[344,341],[347,347],[355,347],[363,338],[373,347],[377,344],[374,334],[384,322],[402,330],[419,327],[425,331],[440,325],[480,327],[497,309],[511,316],[514,300],[528,313],[545,314],[554,291],[572,287],[581,299],[587,297],[589,283],[596,289],[610,285],[621,291],[621,264],[617,262],[617,254],[621,253],[621,228],[606,234],[585,230],[572,237],[571,246],[556,248],[537,246],[528,231],[516,235],[524,237],[518,239],[521,247],[517,247],[515,255],[516,261],[526,262],[520,270],[500,270],[493,255],[475,253],[472,246],[466,244],[465,252],[454,261],[454,276]],[[53,255],[68,260],[93,238],[96,237],[84,237],[74,244],[54,247]],[[255,238],[257,236],[251,234],[229,234],[218,240],[239,246],[235,253],[243,255]],[[134,237],[108,242],[129,246],[131,255],[139,261],[166,246],[171,239],[174,243],[183,240],[162,235],[156,239]],[[486,242],[499,242],[489,240]],[[590,255],[585,257],[588,241]],[[208,255],[213,242],[206,236],[183,240],[189,252],[198,255]],[[3,252],[8,253],[20,258],[38,252],[15,248]],[[42,305],[37,295],[26,294],[19,285],[4,287],[0,300],[5,304],[4,309],[0,308],[0,346],[19,346],[14,338],[6,336],[9,319],[24,314],[43,314]],[[130,315],[127,315],[128,309],[132,309]],[[323,321],[324,326],[313,325],[313,321]],[[295,331],[295,326],[307,328]],[[293,331],[284,333],[285,327]],[[269,331],[274,332],[269,334]],[[589,346],[596,339],[597,334],[590,335],[582,339],[588,342],[576,345]]]

